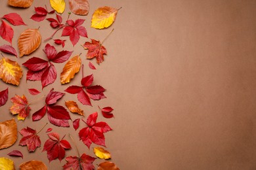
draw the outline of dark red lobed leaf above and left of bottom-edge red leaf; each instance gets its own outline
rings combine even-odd
[[[62,160],[65,156],[65,150],[70,149],[70,143],[64,140],[63,138],[60,140],[60,136],[58,133],[48,133],[47,134],[50,139],[48,139],[44,146],[43,151],[47,151],[47,158],[49,162],[58,158],[58,160]]]

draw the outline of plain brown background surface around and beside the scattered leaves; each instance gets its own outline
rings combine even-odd
[[[66,1],[67,2],[67,1]],[[27,26],[14,27],[13,46],[24,29],[37,28],[43,39],[53,33],[47,20],[37,23],[30,20],[33,7],[47,5],[49,1],[34,1],[29,9],[12,9],[6,1],[1,1],[1,16],[18,12]],[[113,107],[115,119],[106,120],[101,115],[98,121],[106,121],[114,131],[106,133],[106,146],[112,153],[120,169],[256,169],[256,1],[90,1],[85,27],[90,38],[104,42],[108,56],[101,65],[92,62],[97,70],[87,67],[86,50],[79,44],[88,41],[82,38],[75,48],[66,41],[66,50],[74,50],[72,56],[82,53],[85,75],[93,73],[95,84],[107,89],[107,99],[94,101],[93,107],[79,106],[85,110],[85,118],[100,107]],[[116,22],[104,30],[90,27],[93,11],[101,6],[122,7]],[[62,14],[64,20],[68,11]],[[52,16],[54,17],[54,16]],[[60,32],[55,38],[60,38]],[[68,39],[68,38],[64,38]],[[49,41],[53,44],[53,41]],[[1,45],[8,44],[1,39]],[[30,56],[14,58],[24,63],[32,56],[45,58],[40,48]],[[62,50],[60,46],[56,47]],[[55,64],[58,78],[54,84],[43,89],[47,94],[51,88],[63,92],[70,84],[78,85],[79,72],[70,84],[60,86],[59,74],[64,66]],[[14,94],[25,94],[29,101],[37,96],[28,93],[28,88],[41,90],[40,82],[26,82],[24,68],[20,86],[11,86],[0,81],[0,90],[9,87],[9,101],[1,107],[1,121],[13,118],[8,108]],[[58,101],[73,99],[75,95],[66,93]],[[32,113],[40,109],[44,101],[33,104],[30,117],[18,121],[18,129],[26,126],[41,129],[48,122],[45,116],[39,122],[32,122]],[[72,119],[79,118],[71,114]],[[15,117],[16,119],[16,117]],[[70,121],[70,124],[72,122]],[[85,125],[81,123],[81,127]],[[71,133],[80,153],[93,156],[93,150],[79,141],[78,130],[48,124],[40,133],[42,146],[48,139],[45,130],[53,127],[61,135]],[[42,160],[49,169],[61,169],[66,163],[58,160],[48,163],[46,152],[37,148],[28,154],[27,148],[18,146],[3,149],[0,156],[17,149],[23,152],[24,160],[11,158],[16,168],[23,161]],[[70,138],[66,139],[72,143]],[[74,144],[72,143],[74,147]],[[95,146],[94,144],[92,146]],[[68,150],[66,156],[76,155],[75,149]],[[101,160],[95,161],[96,163]]]

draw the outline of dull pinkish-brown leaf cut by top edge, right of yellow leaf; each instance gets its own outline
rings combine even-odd
[[[88,0],[69,0],[70,10],[77,15],[87,15],[89,12]]]

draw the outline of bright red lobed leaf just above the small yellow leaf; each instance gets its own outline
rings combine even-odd
[[[84,127],[79,131],[79,139],[90,148],[92,143],[105,146],[105,137],[104,133],[111,131],[111,127],[108,126],[106,122],[97,122],[98,113],[94,112],[90,114],[87,118],[88,127]]]

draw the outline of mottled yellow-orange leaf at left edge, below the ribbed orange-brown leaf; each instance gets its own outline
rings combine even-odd
[[[0,59],[0,78],[9,84],[18,86],[22,77],[22,68],[16,61],[8,58]]]

